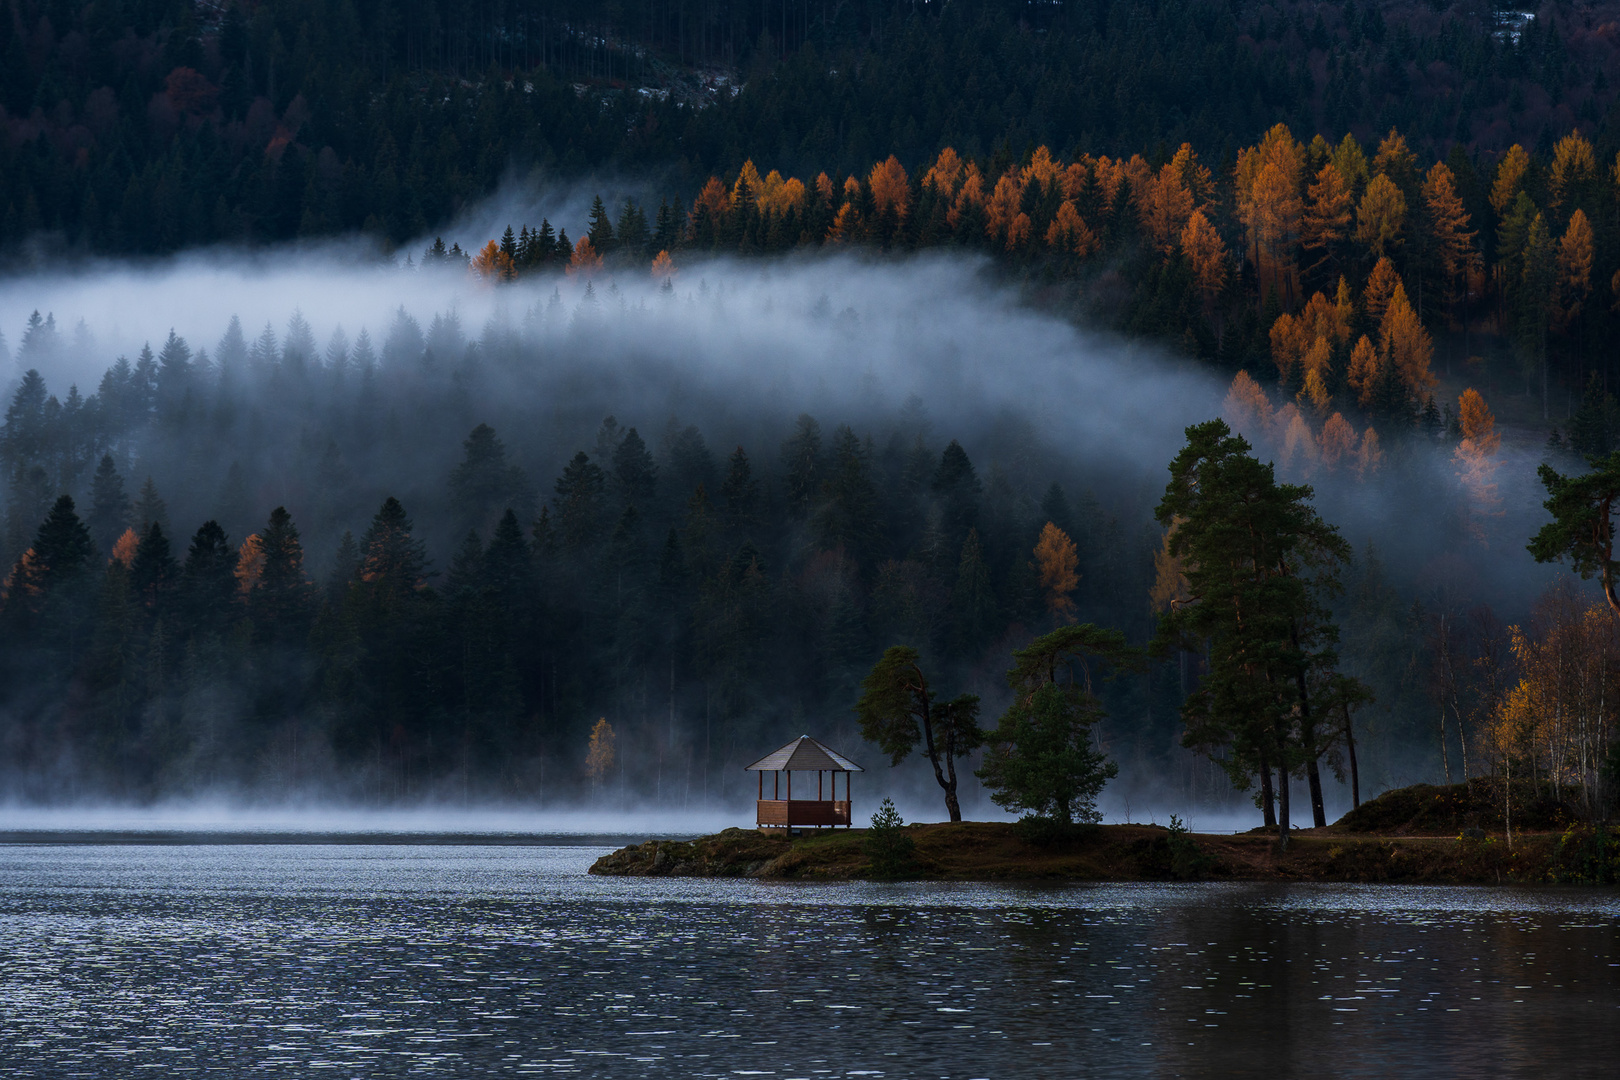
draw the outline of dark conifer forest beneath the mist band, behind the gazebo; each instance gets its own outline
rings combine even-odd
[[[1145,640],[1150,538],[1055,483],[1071,465],[987,470],[917,405],[862,431],[787,415],[747,445],[664,410],[595,439],[526,403],[471,423],[536,350],[593,355],[593,303],[476,342],[403,311],[376,343],[232,322],[87,397],[31,369],[0,437],[11,790],[543,797],[606,716],[632,776],[697,800],[784,721],[854,743],[894,641],[993,695],[1050,623],[1047,521],[1077,544],[1077,610]],[[24,361],[71,348],[52,334]],[[1144,695],[1173,691],[1119,699],[1142,729]],[[1173,709],[1132,738],[1168,753]]]

